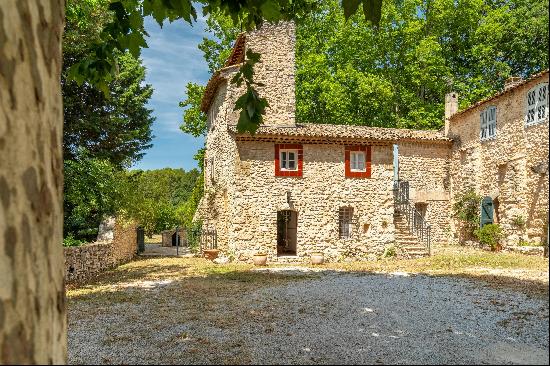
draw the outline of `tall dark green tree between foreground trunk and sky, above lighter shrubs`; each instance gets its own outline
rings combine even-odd
[[[89,55],[112,19],[106,0],[68,0],[63,35],[61,75],[65,159],[85,148],[95,158],[117,167],[130,166],[151,146],[154,117],[146,107],[153,88],[145,84],[145,67],[129,53],[116,52],[118,73],[108,84],[108,96],[88,83],[67,79],[68,70]]]

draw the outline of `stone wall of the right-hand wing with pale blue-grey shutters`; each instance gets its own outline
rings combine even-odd
[[[449,137],[455,140],[451,160],[451,194],[469,188],[497,200],[496,218],[508,245],[521,241],[540,243],[545,237],[548,214],[548,174],[532,169],[548,164],[548,118],[525,125],[529,89],[548,82],[548,73],[509,90],[498,98],[477,105],[450,120]],[[496,106],[496,137],[480,140],[480,113]],[[521,216],[525,227],[514,224]],[[458,223],[453,223],[456,232]]]

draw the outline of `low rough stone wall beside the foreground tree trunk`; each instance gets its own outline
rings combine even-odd
[[[136,256],[136,225],[116,224],[111,242],[64,248],[65,281],[80,282],[128,262]]]

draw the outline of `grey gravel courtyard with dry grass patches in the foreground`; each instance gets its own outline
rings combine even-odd
[[[548,298],[490,281],[140,262],[69,291],[69,363],[549,362]]]

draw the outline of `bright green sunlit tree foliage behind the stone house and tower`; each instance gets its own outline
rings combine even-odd
[[[384,2],[377,28],[346,20],[326,0],[297,22],[296,119],[301,122],[437,129],[444,96],[465,107],[502,89],[509,76],[548,68],[548,1]],[[213,71],[238,29],[207,20],[214,38],[199,48]],[[188,84],[182,130],[200,126],[201,86]]]

